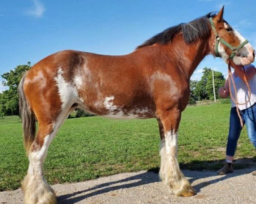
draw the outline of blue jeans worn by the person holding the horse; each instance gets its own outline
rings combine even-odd
[[[256,103],[250,108],[240,111],[243,123],[247,126],[247,133],[250,141],[256,148]],[[242,127],[236,107],[230,111],[230,128],[227,139],[227,156],[234,156],[236,152],[237,141],[239,139]]]

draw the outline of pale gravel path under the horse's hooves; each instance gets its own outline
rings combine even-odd
[[[217,176],[212,171],[183,170],[198,194],[170,195],[158,174],[139,171],[95,180],[56,184],[58,204],[256,204],[256,166]],[[20,189],[0,192],[0,204],[22,204]]]

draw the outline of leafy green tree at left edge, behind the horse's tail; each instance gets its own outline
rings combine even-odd
[[[17,88],[22,74],[30,68],[30,62],[28,62],[27,65],[17,65],[14,70],[1,75],[1,77],[5,79],[2,84],[8,86],[9,89],[0,94],[0,113],[7,116],[19,114],[19,96]]]

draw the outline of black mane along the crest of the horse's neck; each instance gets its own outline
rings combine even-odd
[[[183,39],[187,44],[194,42],[198,38],[207,37],[210,34],[209,18],[214,16],[215,12],[210,12],[209,14],[192,20],[189,23],[180,23],[177,26],[167,28],[163,32],[146,40],[142,45],[139,45],[137,49],[153,45],[154,43],[167,44],[180,32],[182,32]]]

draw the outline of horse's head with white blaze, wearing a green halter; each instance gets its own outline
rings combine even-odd
[[[212,53],[225,62],[235,65],[247,65],[254,61],[255,51],[252,45],[223,19],[224,6],[210,20],[212,25]]]

